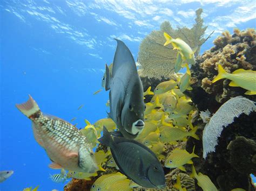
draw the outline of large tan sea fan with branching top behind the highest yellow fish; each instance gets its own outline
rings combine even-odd
[[[170,34],[172,38],[181,38],[188,45],[198,47],[196,54],[200,51],[200,46],[205,42],[203,38],[207,27],[203,27],[201,18],[202,9],[196,11],[196,24],[191,29],[187,27],[173,29],[169,22],[164,22],[159,31],[152,31],[140,44],[138,61],[141,65],[141,75],[148,77],[161,76],[170,77],[173,75],[173,69],[176,62],[177,51],[173,50],[171,45],[163,46],[165,38],[164,32]]]

